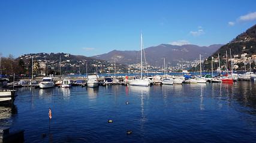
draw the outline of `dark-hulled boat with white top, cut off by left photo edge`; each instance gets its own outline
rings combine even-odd
[[[0,104],[5,104],[5,103],[13,103],[16,96],[15,95],[16,90],[9,90],[9,89],[4,89],[3,91],[0,91]]]

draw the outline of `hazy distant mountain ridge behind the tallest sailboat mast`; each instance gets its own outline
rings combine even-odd
[[[158,46],[150,46],[144,49],[143,58],[146,57],[146,62],[150,66],[161,66],[163,59],[165,63],[174,66],[180,61],[194,61],[199,59],[201,54],[202,58],[207,58],[213,52],[218,50],[222,45],[215,44],[210,46],[197,46],[197,45],[169,45],[161,44]],[[145,56],[144,56],[145,55]],[[140,63],[140,50],[139,51],[118,51],[113,50],[107,54],[96,55],[93,58],[100,60],[114,61],[122,64],[135,64]]]

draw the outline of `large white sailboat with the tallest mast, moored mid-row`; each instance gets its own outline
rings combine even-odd
[[[136,86],[149,86],[149,79],[143,78],[142,76],[142,34],[140,34],[140,77],[135,76],[134,79],[129,80],[129,85]]]

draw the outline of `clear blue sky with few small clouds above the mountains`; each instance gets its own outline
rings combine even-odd
[[[74,55],[161,43],[225,44],[256,24],[256,1],[0,1],[0,53]]]

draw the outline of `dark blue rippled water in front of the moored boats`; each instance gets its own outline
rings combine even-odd
[[[13,107],[0,107],[0,124],[25,129],[25,142],[256,141],[256,82],[22,88],[17,94]]]

